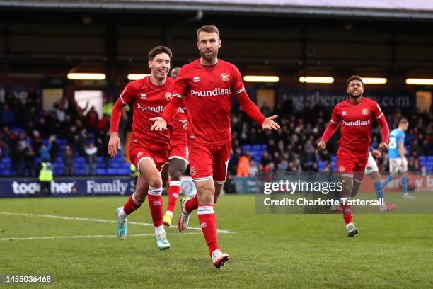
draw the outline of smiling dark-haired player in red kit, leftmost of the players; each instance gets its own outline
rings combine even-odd
[[[112,110],[111,137],[108,154],[115,157],[120,149],[117,135],[123,106],[132,103],[133,122],[129,158],[139,170],[136,191],[123,207],[116,210],[118,225],[117,237],[127,237],[127,216],[142,205],[148,195],[149,207],[154,222],[158,249],[170,249],[163,227],[162,179],[159,172],[165,164],[170,151],[170,135],[167,131],[151,131],[153,124],[149,118],[160,116],[173,91],[174,79],[167,77],[170,69],[171,50],[158,46],[149,51],[151,76],[127,84]]]

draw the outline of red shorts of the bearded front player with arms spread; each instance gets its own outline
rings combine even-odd
[[[192,181],[214,180],[224,183],[230,159],[231,142],[223,145],[188,145]]]

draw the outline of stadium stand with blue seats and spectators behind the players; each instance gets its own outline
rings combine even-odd
[[[38,164],[45,159],[50,159],[54,164],[54,176],[67,175],[67,147],[73,151],[74,157],[70,165],[74,176],[129,174],[129,163],[125,157],[118,154],[116,158],[109,159],[106,154],[109,115],[99,119],[92,110],[83,115],[83,109],[66,98],[54,103],[52,110],[43,111],[40,96],[33,90],[29,91],[25,103],[13,91],[8,91],[0,105],[0,176],[36,176]],[[317,118],[311,118],[311,110],[316,111]],[[20,113],[21,111],[30,113]],[[263,132],[244,113],[233,113],[230,174],[236,174],[241,154],[255,159],[260,171],[335,170],[338,137],[334,137],[328,145],[331,154],[319,153],[316,149],[328,122],[329,111],[321,106],[306,107],[297,113],[288,113],[282,111],[282,108],[279,111],[262,108],[262,111],[265,114],[278,113],[282,130]],[[68,117],[64,118],[63,115]],[[396,128],[401,115],[398,109],[387,113],[390,128]],[[410,170],[433,171],[432,113],[405,116],[410,120],[405,143],[410,153]],[[130,128],[130,119],[131,115],[125,114],[122,120],[125,125],[120,127]],[[121,134],[125,139],[127,130],[122,130]],[[372,147],[377,147],[378,140],[379,130],[374,127]],[[91,157],[86,154],[86,148],[91,144],[97,149],[94,170],[89,164]],[[387,166],[387,158],[381,158],[380,170],[386,170]]]

